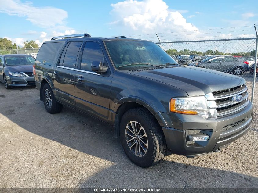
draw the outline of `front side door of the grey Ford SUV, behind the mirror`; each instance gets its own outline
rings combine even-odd
[[[112,76],[109,69],[104,74],[93,72],[93,61],[108,66],[100,43],[86,41],[75,73],[76,108],[107,122]]]

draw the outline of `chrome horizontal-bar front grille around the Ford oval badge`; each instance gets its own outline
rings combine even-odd
[[[212,116],[223,116],[234,113],[248,105],[248,92],[245,84],[220,91],[214,91],[206,98],[211,109]],[[234,95],[242,95],[238,102],[232,101]]]

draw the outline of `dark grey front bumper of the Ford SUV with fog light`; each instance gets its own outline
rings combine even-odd
[[[162,130],[167,148],[172,153],[193,157],[220,151],[221,148],[244,135],[249,130],[253,118],[253,105],[249,102],[244,109],[236,113],[209,119],[198,115],[166,114],[163,113],[163,117],[169,127],[162,127]],[[235,123],[239,124],[233,127]],[[229,129],[226,130],[225,127]],[[187,141],[187,133],[197,130],[209,135],[209,140]]]

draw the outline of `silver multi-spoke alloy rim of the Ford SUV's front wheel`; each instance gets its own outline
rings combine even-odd
[[[134,155],[142,157],[148,150],[148,139],[144,128],[137,121],[130,121],[126,125],[125,138],[128,147]]]

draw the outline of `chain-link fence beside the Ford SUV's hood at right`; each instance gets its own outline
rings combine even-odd
[[[217,39],[199,41],[157,42],[177,63],[237,75],[246,80],[249,99],[258,105],[257,81],[254,73],[257,63],[257,38]]]

